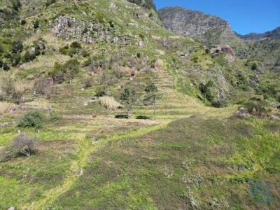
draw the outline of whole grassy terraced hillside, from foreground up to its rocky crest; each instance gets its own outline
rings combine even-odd
[[[15,14],[0,19],[0,209],[279,207],[276,71],[211,55],[127,1],[0,6]],[[120,119],[125,88],[138,103]],[[274,118],[233,117],[250,98]],[[36,139],[29,157],[9,156],[19,134]]]

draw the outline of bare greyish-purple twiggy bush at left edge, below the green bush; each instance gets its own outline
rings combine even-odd
[[[13,139],[10,146],[3,148],[1,151],[0,162],[22,155],[29,157],[34,153],[35,147],[36,140],[33,137],[28,137],[26,134],[20,134]]]

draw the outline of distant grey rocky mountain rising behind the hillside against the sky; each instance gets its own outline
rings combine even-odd
[[[165,7],[158,10],[158,13],[165,27],[176,34],[213,44],[237,40],[230,24],[214,15],[183,7]]]

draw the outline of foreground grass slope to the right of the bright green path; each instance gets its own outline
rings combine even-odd
[[[279,132],[267,130],[267,123],[280,126],[197,116],[141,137],[113,139],[91,156],[85,174],[54,206],[179,209],[192,208],[195,200],[200,209],[209,203],[274,209],[280,202],[276,191],[272,203],[257,202],[248,191],[250,180],[275,187],[279,182]]]

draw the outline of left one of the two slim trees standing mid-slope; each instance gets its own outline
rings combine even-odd
[[[138,102],[137,94],[136,94],[135,90],[132,90],[132,89],[126,87],[123,90],[123,92],[120,94],[120,101],[126,107],[126,109],[127,109],[127,117],[130,118],[132,108]]]

